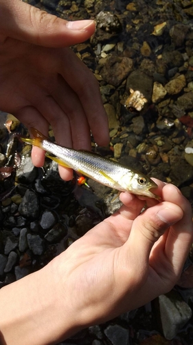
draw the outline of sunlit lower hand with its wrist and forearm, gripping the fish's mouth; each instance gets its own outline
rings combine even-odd
[[[155,182],[162,202],[122,193],[114,215],[0,290],[2,345],[57,344],[174,286],[192,244],[192,209],[178,188]]]

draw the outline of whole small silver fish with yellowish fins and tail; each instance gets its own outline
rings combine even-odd
[[[21,137],[21,140],[26,144],[42,148],[46,151],[47,157],[61,166],[72,168],[79,174],[120,192],[159,199],[158,195],[150,191],[157,188],[157,184],[143,173],[102,157],[95,152],[75,150],[55,144],[35,128],[30,128],[30,132],[34,138]]]

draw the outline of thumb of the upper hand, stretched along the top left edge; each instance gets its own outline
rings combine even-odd
[[[0,2],[0,32],[5,37],[54,48],[85,41],[94,31],[93,20],[65,21],[21,0]]]

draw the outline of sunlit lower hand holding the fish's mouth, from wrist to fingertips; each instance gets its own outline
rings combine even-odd
[[[177,187],[155,181],[162,202],[122,193],[120,210],[52,262],[63,305],[76,310],[80,327],[142,306],[179,279],[193,238],[192,210]]]

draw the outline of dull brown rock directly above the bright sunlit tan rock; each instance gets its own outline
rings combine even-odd
[[[134,91],[139,90],[148,102],[151,101],[152,98],[152,77],[149,77],[141,70],[134,70],[130,73],[126,80],[126,90],[127,92],[131,89]]]

